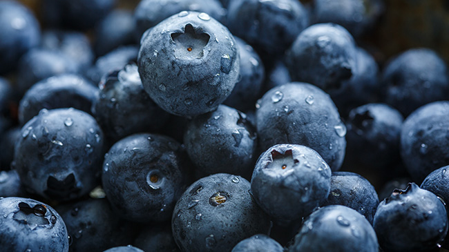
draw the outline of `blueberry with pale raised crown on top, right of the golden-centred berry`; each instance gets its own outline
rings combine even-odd
[[[298,220],[312,213],[330,189],[331,171],[316,151],[278,144],[260,155],[251,177],[254,200],[276,221]]]

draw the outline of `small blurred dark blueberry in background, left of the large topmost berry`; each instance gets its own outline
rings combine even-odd
[[[133,14],[128,10],[114,10],[95,28],[95,54],[105,55],[119,46],[135,43],[134,32]]]

